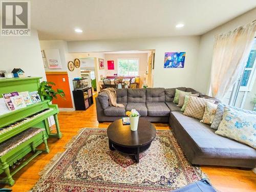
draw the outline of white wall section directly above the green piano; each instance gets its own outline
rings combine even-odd
[[[36,30],[31,30],[31,36],[0,36],[0,47],[0,70],[10,73],[13,68],[21,68],[26,76],[46,80]]]

